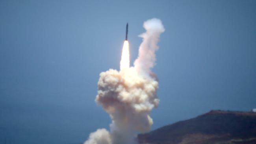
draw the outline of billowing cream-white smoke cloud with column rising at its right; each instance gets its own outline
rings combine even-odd
[[[150,131],[153,120],[149,114],[159,103],[158,81],[150,68],[155,65],[157,43],[164,28],[156,18],[144,22],[144,28],[134,67],[100,74],[96,103],[109,113],[112,123],[110,131],[98,129],[84,144],[137,144],[136,132]]]

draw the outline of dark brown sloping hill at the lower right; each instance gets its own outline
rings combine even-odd
[[[256,144],[256,113],[210,111],[138,136],[140,144]]]

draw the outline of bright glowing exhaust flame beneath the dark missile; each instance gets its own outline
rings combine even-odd
[[[120,61],[120,70],[130,67],[130,52],[129,52],[129,42],[124,41],[124,46],[122,47],[122,57]]]

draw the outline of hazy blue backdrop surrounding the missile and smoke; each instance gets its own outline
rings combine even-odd
[[[99,74],[131,61],[160,18],[160,105],[152,129],[211,109],[256,107],[255,0],[1,0],[0,143],[69,144],[108,128]]]

